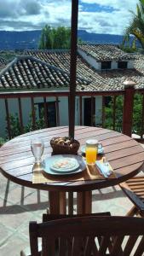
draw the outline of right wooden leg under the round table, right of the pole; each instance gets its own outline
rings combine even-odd
[[[77,195],[77,213],[86,214],[92,211],[92,192],[78,192]]]

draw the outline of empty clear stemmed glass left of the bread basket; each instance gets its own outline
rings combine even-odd
[[[43,140],[38,137],[32,138],[31,150],[33,156],[35,157],[35,163],[40,164],[42,162],[42,154],[44,150]]]

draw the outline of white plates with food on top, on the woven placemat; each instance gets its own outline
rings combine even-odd
[[[43,160],[43,171],[49,174],[72,174],[84,171],[85,167],[84,160],[77,155],[59,154]]]

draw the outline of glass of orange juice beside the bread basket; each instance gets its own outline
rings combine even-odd
[[[91,139],[86,141],[86,162],[89,165],[94,165],[97,157],[98,150],[98,141],[95,139]]]

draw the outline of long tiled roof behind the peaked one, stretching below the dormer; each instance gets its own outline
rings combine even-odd
[[[69,71],[70,51],[67,50],[29,50],[27,55],[33,55],[43,61],[47,61],[55,67]],[[136,55],[135,69],[118,69],[109,71],[96,71],[90,67],[84,59],[78,55],[77,73],[81,77],[91,80],[89,85],[81,85],[77,90],[123,90],[124,80],[132,79],[136,88],[144,88],[144,55]]]

